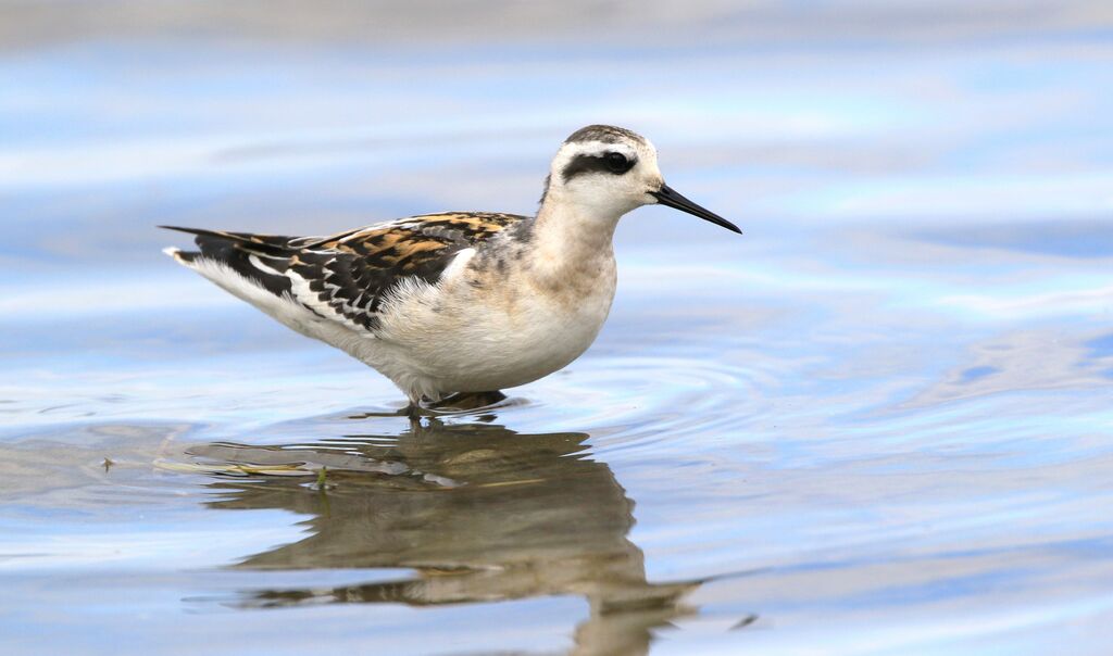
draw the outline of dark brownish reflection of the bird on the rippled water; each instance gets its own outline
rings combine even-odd
[[[316,494],[288,478],[215,484],[216,508],[282,508],[311,515],[309,537],[238,567],[384,568],[414,578],[344,587],[253,590],[239,604],[429,606],[578,595],[591,607],[575,630],[580,654],[646,653],[651,629],[691,612],[680,599],[699,582],[651,584],[627,534],[633,503],[610,468],[587,459],[583,434],[518,435],[500,426],[414,425],[378,436],[287,448],[208,445],[226,463],[331,464],[335,484]],[[341,445],[336,445],[341,446]],[[345,459],[357,469],[337,470]]]

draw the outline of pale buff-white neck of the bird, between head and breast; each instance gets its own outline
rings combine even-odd
[[[550,284],[612,276],[611,241],[622,213],[545,198],[533,225],[534,276]]]

